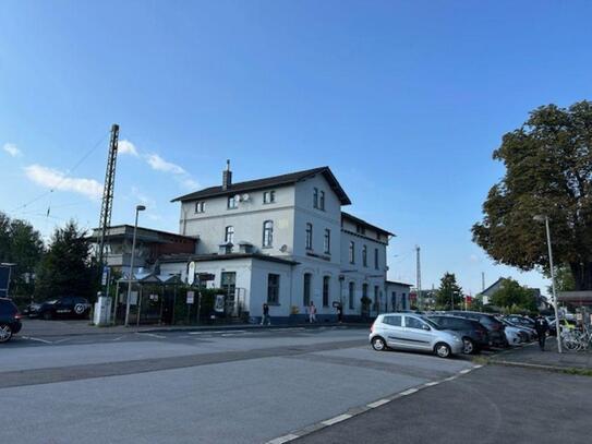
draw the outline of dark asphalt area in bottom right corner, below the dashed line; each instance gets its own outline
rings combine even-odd
[[[294,443],[579,444],[591,411],[589,376],[487,365]]]

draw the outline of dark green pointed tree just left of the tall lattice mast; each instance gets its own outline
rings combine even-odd
[[[93,299],[97,281],[97,267],[90,261],[86,232],[72,220],[57,228],[38,267],[36,298],[81,296]]]

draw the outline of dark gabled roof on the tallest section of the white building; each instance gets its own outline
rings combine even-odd
[[[323,175],[329,183],[331,190],[337,194],[341,205],[350,205],[351,201],[333,175],[329,167],[319,167],[313,169],[305,169],[302,171],[290,172],[281,176],[274,176],[264,179],[247,180],[246,182],[232,183],[228,189],[223,190],[221,185],[209,187],[204,190],[189,193],[173,199],[171,202],[186,202],[195,201],[198,199],[216,197],[222,195],[232,195],[235,193],[242,193],[245,191],[261,190],[269,187],[289,185],[301,180],[307,179],[315,175]]]

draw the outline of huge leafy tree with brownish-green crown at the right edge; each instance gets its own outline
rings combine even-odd
[[[473,240],[497,262],[548,272],[544,224],[533,220],[547,216],[555,265],[569,267],[576,289],[592,289],[592,103],[535,109],[493,157],[506,175],[490,190]]]

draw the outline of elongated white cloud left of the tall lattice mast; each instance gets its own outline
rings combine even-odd
[[[25,175],[33,182],[51,190],[71,191],[92,200],[99,200],[102,195],[102,185],[96,180],[70,178],[61,171],[41,165],[25,167]]]

